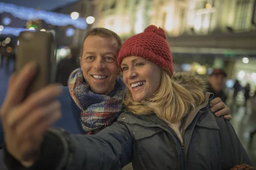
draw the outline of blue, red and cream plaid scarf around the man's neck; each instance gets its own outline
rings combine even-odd
[[[122,79],[117,78],[111,94],[95,94],[85,82],[81,68],[74,70],[68,80],[70,95],[81,109],[81,124],[87,134],[95,134],[110,125],[123,110],[121,93],[125,88]]]

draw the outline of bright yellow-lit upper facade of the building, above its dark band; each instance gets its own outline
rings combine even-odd
[[[95,0],[94,27],[121,37],[138,34],[150,24],[170,37],[214,32],[256,31],[255,0]]]

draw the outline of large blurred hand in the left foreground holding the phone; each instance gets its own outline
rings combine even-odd
[[[61,117],[61,105],[56,100],[62,92],[59,85],[47,85],[24,99],[37,70],[37,64],[29,62],[12,75],[0,108],[6,149],[23,165],[35,161],[44,133]]]

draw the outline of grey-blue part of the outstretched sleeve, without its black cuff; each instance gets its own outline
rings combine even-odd
[[[67,170],[121,170],[131,162],[133,142],[120,122],[96,135],[72,135],[71,141],[75,150]]]

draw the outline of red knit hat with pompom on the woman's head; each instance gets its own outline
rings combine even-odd
[[[162,28],[148,26],[143,33],[128,38],[118,54],[120,67],[125,57],[138,56],[152,61],[163,68],[172,77],[172,54]]]

